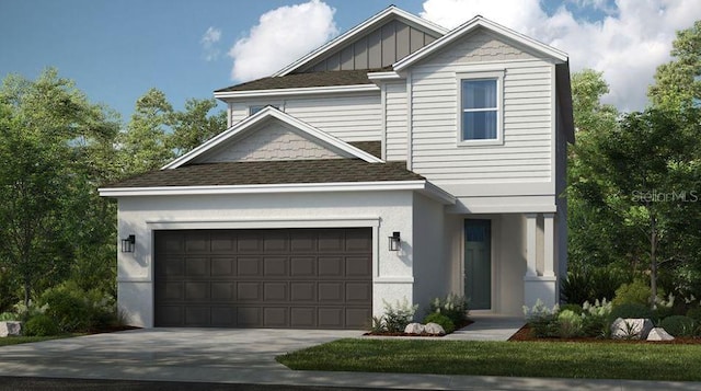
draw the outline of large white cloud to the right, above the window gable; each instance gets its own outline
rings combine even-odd
[[[564,50],[572,71],[604,71],[611,90],[604,100],[623,111],[644,108],[657,66],[670,59],[675,32],[701,19],[696,0],[617,0],[618,12],[599,0],[576,4],[606,10],[606,16],[587,22],[564,7],[548,15],[538,0],[427,0],[421,16],[455,27],[481,14]]]

